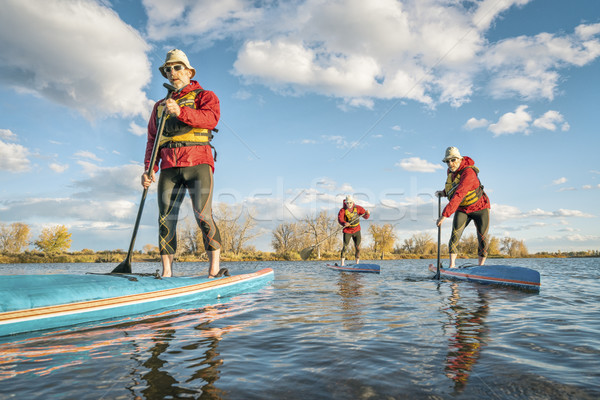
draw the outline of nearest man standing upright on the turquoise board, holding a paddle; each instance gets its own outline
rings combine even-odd
[[[212,216],[214,157],[210,145],[212,133],[216,132],[221,109],[217,96],[204,90],[192,80],[196,70],[181,50],[167,53],[159,68],[160,73],[176,92],[171,98],[158,101],[148,122],[145,166],[150,158],[157,135],[159,120],[165,110],[165,123],[161,140],[160,176],[158,179],[158,230],[159,251],[163,276],[172,275],[172,264],[177,251],[177,219],[179,207],[186,190],[190,194],[196,222],[202,231],[204,248],[209,260],[208,276],[215,277],[225,270],[219,269],[221,236]],[[142,186],[148,188],[155,180],[158,164],[150,176],[142,175]]]

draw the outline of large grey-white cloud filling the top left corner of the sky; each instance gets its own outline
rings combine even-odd
[[[0,84],[90,119],[147,114],[150,46],[100,2],[4,1],[0,36]]]

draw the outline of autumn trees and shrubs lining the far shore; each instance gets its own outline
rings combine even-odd
[[[256,237],[265,234],[257,230],[257,222],[242,208],[219,204],[214,210],[214,217],[221,233],[221,254],[224,260],[299,260],[303,249],[313,247],[310,253],[312,259],[335,259],[340,256],[342,247],[341,226],[337,222],[337,214],[326,211],[312,216],[306,216],[296,222],[283,222],[271,232],[271,247],[273,253],[260,252],[250,244]],[[176,256],[180,261],[206,259],[202,233],[195,221],[184,219],[178,225],[178,249]],[[368,245],[366,243],[369,243]],[[53,256],[69,251],[72,239],[71,233],[64,225],[47,227],[40,235],[32,240],[28,225],[15,222],[0,223],[0,253],[18,254],[29,246],[34,246],[45,255]],[[440,245],[442,255],[448,254],[448,245]],[[464,235],[459,243],[461,256],[477,256],[477,237],[475,234]],[[349,251],[353,251],[350,246]],[[114,253],[123,253],[118,249]],[[84,249],[81,254],[94,254],[92,250]],[[104,251],[103,253],[111,253]],[[150,257],[158,258],[158,247],[152,244],[143,246],[142,252]],[[527,246],[523,240],[511,237],[490,237],[490,257],[529,257]],[[560,252],[559,252],[560,253]],[[392,224],[377,224],[371,222],[363,229],[363,245],[361,258],[435,258],[437,241],[428,233],[415,233],[409,238],[399,240]],[[597,257],[598,251],[577,253],[560,253],[558,256],[591,256]],[[556,253],[538,253],[539,256],[557,256]],[[110,255],[95,258],[95,261],[115,261]]]

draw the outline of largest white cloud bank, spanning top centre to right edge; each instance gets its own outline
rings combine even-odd
[[[210,46],[244,40],[234,73],[287,94],[316,92],[344,106],[412,99],[458,107],[478,79],[496,97],[551,99],[559,71],[599,56],[598,28],[490,42],[503,13],[530,0],[146,0],[150,38],[185,38]],[[260,7],[260,8],[259,8]],[[201,16],[202,24],[195,23]],[[531,55],[535,56],[532,60]],[[486,75],[489,75],[487,78]],[[486,79],[487,78],[487,79]]]

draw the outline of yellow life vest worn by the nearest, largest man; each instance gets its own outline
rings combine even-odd
[[[196,97],[202,89],[192,90],[184,96],[175,100],[179,107],[189,107],[196,109]],[[160,116],[165,108],[164,104],[160,104],[157,108],[156,115]],[[217,130],[214,130],[217,132]],[[184,146],[201,146],[210,145],[212,140],[212,130],[206,128],[193,128],[171,115],[165,115],[165,126],[163,134],[160,138],[160,147],[184,147]],[[212,146],[211,146],[212,147]]]

